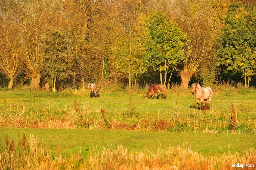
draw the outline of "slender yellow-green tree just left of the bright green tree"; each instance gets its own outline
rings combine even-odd
[[[127,76],[128,86],[131,88],[137,81],[138,73],[143,56],[143,45],[141,41],[140,28],[142,22],[138,19],[138,10],[134,8],[132,1],[122,1],[122,6],[114,13],[115,41],[112,46],[112,63],[115,70]],[[135,75],[135,78],[134,78]]]

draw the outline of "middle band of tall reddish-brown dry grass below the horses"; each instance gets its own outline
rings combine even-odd
[[[11,106],[10,106],[11,107]],[[243,107],[241,106],[243,109]],[[214,109],[200,112],[188,112],[185,115],[174,109],[168,113],[168,118],[141,117],[132,109],[125,113],[117,113],[122,117],[109,115],[101,109],[94,113],[88,105],[80,105],[76,101],[70,107],[62,110],[62,114],[56,115],[47,112],[43,116],[25,116],[23,104],[16,113],[10,108],[4,108],[0,115],[0,126],[16,128],[65,128],[65,129],[118,129],[136,131],[169,131],[169,132],[206,132],[206,133],[255,133],[256,120],[236,119],[239,108],[231,107],[230,112],[215,112]],[[231,115],[231,116],[230,116]],[[224,116],[224,117],[223,117]],[[221,119],[220,119],[221,118]],[[236,121],[235,121],[236,119]],[[124,121],[125,120],[125,121]]]

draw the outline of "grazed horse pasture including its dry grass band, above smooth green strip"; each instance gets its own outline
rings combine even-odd
[[[0,93],[0,125],[18,128],[132,129],[137,131],[255,133],[256,90],[216,92],[211,109],[197,109],[190,90],[167,91],[167,99],[145,99],[135,92],[102,90]],[[230,126],[234,105],[235,126]],[[103,119],[102,112],[105,117]]]

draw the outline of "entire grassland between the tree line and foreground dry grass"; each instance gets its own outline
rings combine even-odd
[[[89,92],[82,90],[56,93],[0,90],[0,160],[9,158],[6,155],[6,135],[18,147],[19,132],[20,136],[26,135],[29,147],[29,136],[33,135],[38,139],[37,146],[42,144],[47,151],[51,150],[50,155],[58,157],[63,154],[63,158],[68,158],[79,152],[84,156],[85,162],[89,158],[94,160],[95,155],[92,153],[98,153],[99,150],[101,156],[104,155],[104,148],[109,148],[106,153],[113,154],[121,146],[124,147],[123,150],[127,149],[127,153],[137,157],[146,150],[151,154],[157,153],[159,148],[166,150],[163,154],[167,150],[178,154],[185,143],[184,152],[190,153],[187,146],[191,146],[193,153],[190,155],[199,154],[199,164],[205,159],[214,168],[226,166],[227,161],[234,158],[254,161],[251,160],[256,155],[255,150],[251,150],[256,148],[254,88],[245,90],[216,86],[213,88],[211,109],[206,111],[196,108],[195,96],[191,95],[190,90],[173,87],[167,91],[166,100],[145,99],[145,91],[146,89],[101,89],[99,98],[90,98]],[[178,148],[170,149],[173,146]],[[151,159],[150,156],[148,158]],[[183,160],[179,154],[178,158]],[[223,159],[223,162],[210,164],[209,161],[212,162],[215,158]],[[75,156],[74,160],[77,159]],[[110,160],[106,161],[109,163]],[[120,164],[115,161],[113,165]],[[102,162],[96,162],[97,166],[106,167]],[[128,162],[127,165],[132,165]],[[126,163],[122,165],[126,167]],[[199,164],[196,165],[204,169]],[[38,167],[36,165],[32,167]],[[180,166],[179,163],[177,165]],[[168,163],[168,166],[177,165]],[[187,165],[186,161],[184,165]],[[69,164],[65,164],[65,167],[69,167]],[[148,167],[155,166],[148,164]]]

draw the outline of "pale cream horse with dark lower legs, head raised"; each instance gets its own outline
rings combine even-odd
[[[213,91],[210,87],[202,88],[200,84],[193,83],[191,93],[192,95],[195,93],[196,102],[200,110],[203,108],[204,110],[210,109],[210,104],[213,96]],[[203,100],[205,101],[205,107],[203,107]],[[200,106],[200,103],[201,103],[201,106]]]

